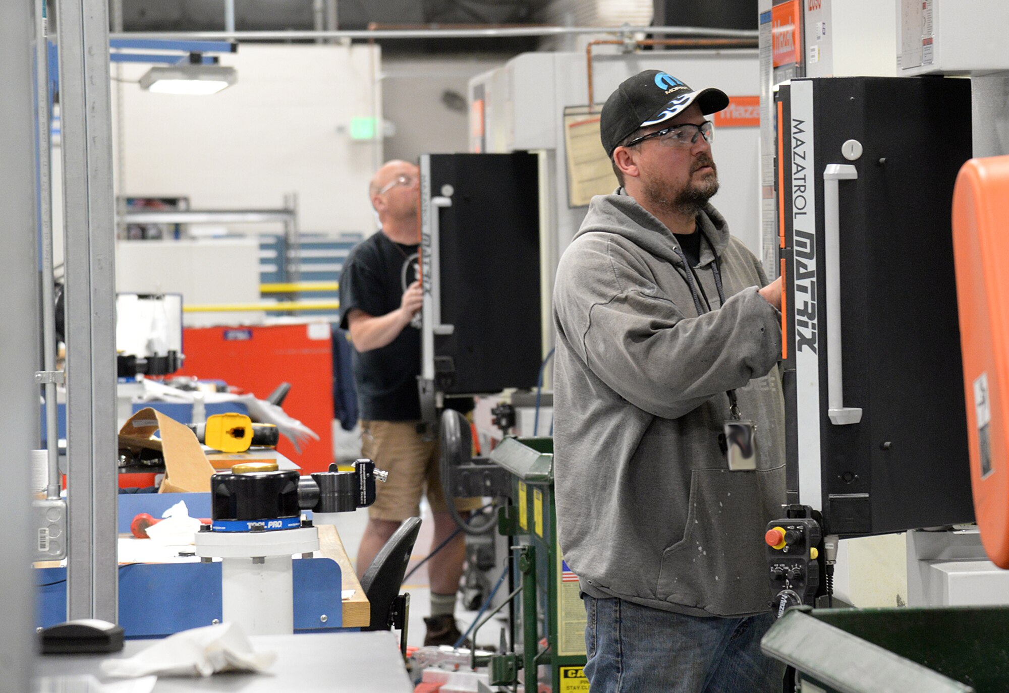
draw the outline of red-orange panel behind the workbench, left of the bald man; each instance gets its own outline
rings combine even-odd
[[[190,327],[184,330],[186,362],[180,375],[224,380],[264,399],[291,383],[284,411],[319,435],[302,453],[281,436],[277,451],[303,474],[333,461],[333,357],[329,326]]]

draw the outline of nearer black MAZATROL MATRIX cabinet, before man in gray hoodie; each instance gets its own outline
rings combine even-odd
[[[842,537],[971,522],[950,228],[971,83],[800,79],[777,100],[789,500]],[[857,172],[836,184],[847,425],[827,414],[827,164]]]

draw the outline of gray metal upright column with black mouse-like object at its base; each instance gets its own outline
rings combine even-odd
[[[115,201],[107,0],[58,0],[70,618],[118,616]]]

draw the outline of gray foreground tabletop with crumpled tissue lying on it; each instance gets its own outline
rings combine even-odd
[[[216,674],[207,678],[159,678],[153,693],[183,691],[326,691],[327,693],[412,693],[400,642],[390,630],[326,632],[299,636],[252,636],[256,651],[276,653],[276,662],[264,674]],[[101,677],[105,659],[132,657],[150,641],[128,641],[121,653],[101,655],[42,655],[36,675],[64,677],[91,675],[102,683],[121,681]],[[48,690],[87,690],[50,688]]]

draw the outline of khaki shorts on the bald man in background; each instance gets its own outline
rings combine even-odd
[[[421,493],[427,491],[434,512],[447,512],[439,471],[438,441],[417,433],[416,421],[361,421],[361,454],[388,472],[388,481],[375,484],[375,501],[368,507],[372,519],[403,522],[421,516]],[[460,512],[475,510],[480,498],[456,498]]]

